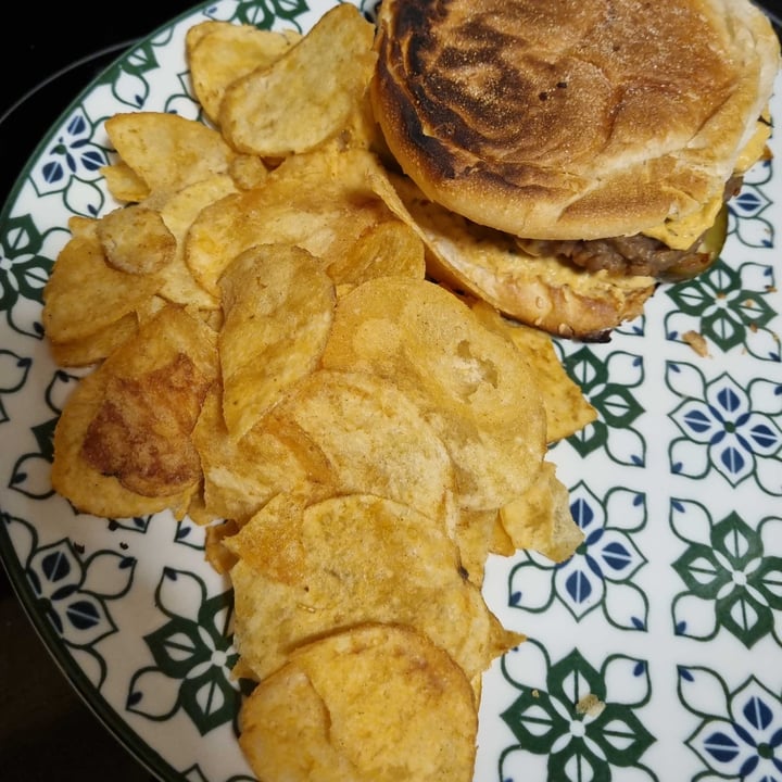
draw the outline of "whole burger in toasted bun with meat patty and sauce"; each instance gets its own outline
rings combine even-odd
[[[432,274],[555,335],[705,270],[768,153],[780,45],[748,0],[383,0],[376,50]]]

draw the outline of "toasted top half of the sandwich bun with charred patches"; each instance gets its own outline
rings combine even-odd
[[[533,239],[632,235],[718,198],[780,64],[747,0],[383,0],[376,48],[405,173]]]

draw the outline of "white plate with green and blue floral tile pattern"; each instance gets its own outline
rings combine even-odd
[[[192,24],[305,31],[328,5],[217,0],[162,27],[68,106],[0,213],[0,554],[73,686],[161,780],[252,779],[230,588],[188,519],[96,519],[52,492],[53,429],[79,373],[51,361],[41,291],[67,218],[111,207],[103,121],[198,116]],[[782,79],[777,92],[782,116]],[[551,454],[585,540],[557,566],[525,552],[489,564],[490,607],[528,641],[485,674],[480,782],[782,778],[779,133],[771,147],[715,266],[661,286],[607,343],[556,343],[600,413]]]

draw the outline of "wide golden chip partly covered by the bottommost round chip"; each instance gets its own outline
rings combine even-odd
[[[239,652],[258,680],[302,644],[363,622],[417,629],[468,679],[521,640],[463,578],[442,526],[391,500],[343,495],[302,510],[279,496],[225,545],[238,557]]]

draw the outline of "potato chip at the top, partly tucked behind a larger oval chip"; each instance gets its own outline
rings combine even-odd
[[[249,24],[202,22],[188,30],[186,55],[193,92],[204,114],[219,124],[226,88],[245,74],[270,65],[301,40],[295,30],[265,30]]]

